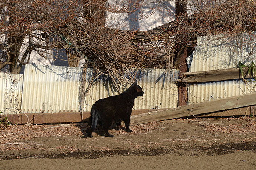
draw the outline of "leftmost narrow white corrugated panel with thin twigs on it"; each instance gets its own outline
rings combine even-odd
[[[20,113],[23,75],[0,73],[0,114]]]

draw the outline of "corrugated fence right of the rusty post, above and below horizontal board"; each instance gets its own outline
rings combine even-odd
[[[256,59],[255,47],[256,40],[252,35],[243,35],[242,40],[224,39],[221,35],[198,37],[190,72],[236,68],[239,62],[248,65]],[[190,84],[188,104],[256,92],[255,80],[248,80]]]

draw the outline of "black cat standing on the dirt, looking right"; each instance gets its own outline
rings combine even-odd
[[[124,92],[116,96],[110,96],[105,99],[99,99],[92,105],[91,117],[89,119],[90,129],[86,130],[87,136],[92,137],[97,122],[102,126],[104,135],[114,137],[108,133],[108,129],[112,125],[116,125],[116,129],[120,130],[121,121],[125,123],[126,131],[132,132],[130,129],[130,116],[134,99],[142,96],[144,92],[137,85],[137,80]]]

